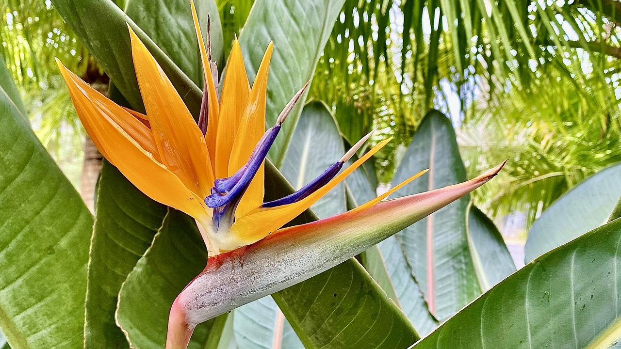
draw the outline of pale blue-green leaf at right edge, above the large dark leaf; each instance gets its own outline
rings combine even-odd
[[[607,222],[621,196],[621,165],[599,171],[571,189],[535,220],[525,246],[525,260],[579,237]]]

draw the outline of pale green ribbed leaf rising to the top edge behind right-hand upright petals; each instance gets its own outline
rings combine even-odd
[[[332,27],[345,0],[256,0],[240,35],[246,70],[253,81],[263,52],[274,42],[268,81],[266,123],[269,127],[289,99],[314,75]],[[304,97],[306,98],[306,94]],[[283,165],[304,101],[284,123],[270,150],[274,165]]]

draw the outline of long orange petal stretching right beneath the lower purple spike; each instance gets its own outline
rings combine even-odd
[[[355,171],[358,166],[371,158],[371,156],[383,148],[386,143],[390,142],[391,139],[392,137],[379,142],[378,145],[361,156],[361,158],[343,170],[343,172],[339,173],[328,184],[325,184],[325,186],[315,191],[315,193],[292,204],[255,209],[249,212],[248,215],[236,220],[231,227],[231,232],[234,233],[240,241],[244,242],[244,244],[256,242],[266,237],[269,233],[275,232],[277,229],[287,224],[289,220],[294,219],[297,215],[306,211],[307,208],[311,207],[312,204],[328,193],[330,189],[337,186],[338,183],[341,183],[343,179]]]

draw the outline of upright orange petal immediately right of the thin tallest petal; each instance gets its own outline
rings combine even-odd
[[[243,64],[242,48],[235,38],[222,83],[215,143],[215,178],[226,178],[235,173],[234,171],[229,173],[229,158],[238,125],[248,102],[248,94],[250,94],[250,84],[248,84],[246,67]]]

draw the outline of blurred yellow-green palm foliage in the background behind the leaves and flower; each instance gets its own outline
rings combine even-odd
[[[217,1],[225,55],[252,4]],[[49,0],[0,6],[2,57],[35,132],[79,187],[88,144],[54,57],[104,92],[107,78]],[[395,136],[376,158],[381,183],[428,109],[445,112],[470,174],[509,158],[474,201],[519,237],[569,188],[621,161],[619,24],[615,0],[347,0],[310,96],[350,142],[374,127]]]

